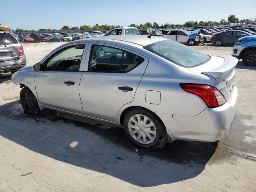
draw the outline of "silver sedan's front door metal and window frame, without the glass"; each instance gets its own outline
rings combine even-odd
[[[80,62],[80,71],[40,70],[37,72],[35,77],[36,92],[40,103],[44,106],[84,114],[79,95],[79,84],[88,44],[76,44],[76,46],[80,45],[85,45]],[[73,83],[70,84],[70,82]]]

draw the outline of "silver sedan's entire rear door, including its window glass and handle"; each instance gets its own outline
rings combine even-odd
[[[93,43],[90,47],[79,86],[84,112],[116,122],[120,108],[133,100],[148,58],[109,44]]]

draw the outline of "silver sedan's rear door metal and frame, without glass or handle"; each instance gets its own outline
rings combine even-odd
[[[122,50],[126,49],[122,48]],[[127,51],[132,52],[131,50]],[[89,51],[88,54],[90,54]],[[148,58],[138,53],[134,54],[144,58],[144,61],[129,72],[85,71],[82,73],[79,92],[86,116],[116,122],[120,108],[132,102],[138,84],[148,65]],[[130,87],[132,91],[118,89],[122,86]]]

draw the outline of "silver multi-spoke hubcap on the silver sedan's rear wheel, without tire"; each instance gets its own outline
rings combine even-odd
[[[155,124],[142,114],[136,114],[130,118],[128,129],[132,138],[141,144],[150,144],[156,138]]]

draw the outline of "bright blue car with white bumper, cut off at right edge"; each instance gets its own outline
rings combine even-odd
[[[233,47],[232,56],[242,59],[245,65],[256,66],[256,36],[238,39]]]

